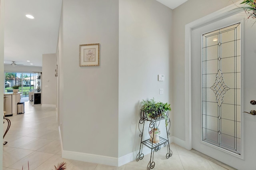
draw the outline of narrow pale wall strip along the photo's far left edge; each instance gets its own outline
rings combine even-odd
[[[4,89],[4,0],[0,0],[0,89]],[[0,90],[0,111],[4,110],[4,91]],[[2,115],[2,113],[1,113]],[[1,122],[3,122],[1,116]],[[3,136],[3,124],[0,123],[0,136]],[[3,138],[0,138],[0,150],[3,150]],[[0,153],[0,168],[3,167],[3,152]]]

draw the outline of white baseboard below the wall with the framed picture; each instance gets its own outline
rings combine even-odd
[[[96,164],[118,166],[118,158],[96,154],[87,154],[82,152],[62,150],[62,158],[79,160],[83,162],[91,162]]]

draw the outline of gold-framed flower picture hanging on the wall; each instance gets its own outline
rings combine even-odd
[[[79,66],[100,65],[100,44],[79,45]]]

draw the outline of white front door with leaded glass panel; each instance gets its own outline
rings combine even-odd
[[[192,148],[256,169],[256,24],[244,12],[192,30]]]

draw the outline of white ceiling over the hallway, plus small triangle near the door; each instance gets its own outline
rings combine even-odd
[[[174,9],[187,0],[157,1]],[[56,53],[62,0],[5,0],[4,5],[4,63],[42,67],[42,54]]]

